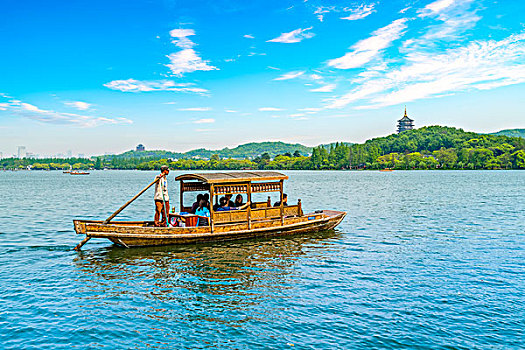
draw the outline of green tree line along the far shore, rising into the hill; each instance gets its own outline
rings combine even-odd
[[[465,132],[429,126],[371,139],[362,144],[335,143],[272,156],[265,152],[253,159],[170,159],[149,157],[96,157],[94,159],[4,159],[4,169],[139,169],[174,170],[241,169],[525,169],[525,139]]]

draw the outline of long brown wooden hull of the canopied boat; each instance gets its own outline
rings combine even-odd
[[[113,222],[74,220],[75,231],[90,238],[107,238],[130,248],[172,244],[194,244],[238,239],[285,236],[330,230],[341,223],[346,212],[325,210],[301,217],[216,225],[213,232],[204,227],[152,227],[151,222]]]

